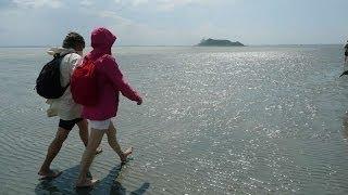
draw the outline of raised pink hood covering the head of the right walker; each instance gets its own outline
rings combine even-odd
[[[98,50],[111,50],[111,47],[115,40],[116,36],[103,27],[95,29],[90,37],[91,47]]]

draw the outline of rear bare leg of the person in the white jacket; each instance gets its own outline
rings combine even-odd
[[[48,147],[47,155],[45,158],[45,161],[39,170],[40,176],[47,176],[51,173],[52,171],[50,170],[51,162],[62,148],[63,142],[66,140],[69,135],[69,130],[63,129],[63,128],[58,128],[57,134],[54,140],[51,142],[50,146]]]

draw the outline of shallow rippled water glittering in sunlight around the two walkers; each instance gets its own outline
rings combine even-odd
[[[75,128],[38,181],[57,118],[33,90],[45,48],[0,49],[0,194],[347,194],[348,77],[340,46],[120,47],[113,51],[144,105],[121,99],[120,160],[103,139],[75,191]]]

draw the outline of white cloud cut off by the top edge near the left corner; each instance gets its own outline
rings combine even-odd
[[[35,9],[42,6],[58,9],[63,5],[63,2],[61,0],[12,0],[12,2],[22,8]]]

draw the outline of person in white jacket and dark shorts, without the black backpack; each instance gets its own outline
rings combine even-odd
[[[67,88],[59,99],[47,100],[50,105],[47,110],[48,117],[58,116],[60,119],[55,138],[50,143],[46,158],[38,171],[40,179],[52,179],[62,173],[62,171],[50,169],[50,166],[75,125],[79,129],[79,138],[84,145],[87,146],[88,144],[88,123],[86,119],[82,118],[82,105],[73,101],[69,86],[74,66],[82,61],[84,48],[84,38],[79,34],[72,31],[66,35],[62,48],[51,48],[48,51],[50,55],[64,56],[60,63],[60,81],[62,87],[66,86]],[[95,153],[101,152],[100,148],[95,151]]]

